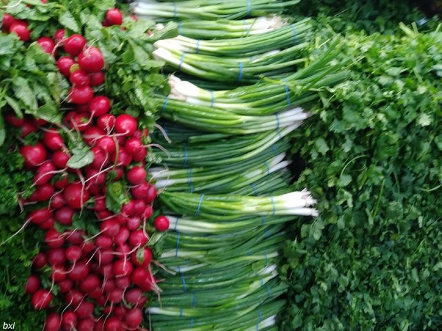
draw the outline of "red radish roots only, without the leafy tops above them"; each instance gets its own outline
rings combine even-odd
[[[9,17],[3,18],[3,28],[23,41],[29,39],[27,28],[17,30],[17,22],[9,24],[5,19]],[[121,23],[121,12],[108,10],[104,25]],[[5,117],[21,128],[22,138],[31,132],[39,137],[37,143],[20,148],[25,167],[35,174],[35,192],[21,201],[28,210],[25,225],[37,225],[46,232],[44,249],[32,262],[34,273],[26,292],[35,309],[48,310],[46,331],[144,330],[142,307],[147,298],[143,293],[157,290],[146,230],[157,196],[155,185],[146,179],[148,130],[140,128],[130,114],[111,114],[111,99],[96,94],[105,81],[99,48],[88,46],[79,34],[65,37],[62,29],[53,38],[42,37],[37,42],[55,57],[59,71],[72,85],[68,111],[60,125],[19,119],[14,114]],[[71,137],[80,137],[93,161],[69,166]],[[123,183],[126,197],[119,212],[112,212],[106,204],[108,185],[115,181]],[[97,223],[97,234],[73,226],[81,214],[91,215],[88,221]],[[156,217],[153,228],[166,231],[169,220]],[[50,288],[42,286],[43,277],[48,277]]]

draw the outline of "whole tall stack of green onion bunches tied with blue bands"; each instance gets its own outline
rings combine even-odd
[[[309,192],[290,185],[287,135],[309,117],[301,106],[345,79],[332,61],[338,41],[305,57],[308,20],[250,18],[295,2],[133,3],[136,14],[180,19],[181,32],[154,52],[177,71],[169,97],[157,97],[162,163],[149,170],[170,220],[161,297],[148,308],[154,330],[278,330],[287,222],[317,216]],[[253,30],[254,21],[280,24]]]

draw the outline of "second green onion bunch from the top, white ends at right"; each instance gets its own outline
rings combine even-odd
[[[288,24],[288,19],[278,15],[243,20],[218,19],[216,21],[204,21],[192,19],[180,21],[178,23],[178,33],[195,39],[233,39],[266,33]]]

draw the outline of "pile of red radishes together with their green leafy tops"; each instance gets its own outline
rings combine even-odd
[[[1,63],[12,75],[11,85],[3,80],[2,90],[13,92],[2,98],[6,122],[21,131],[19,152],[33,174],[28,183],[33,192],[19,199],[25,223],[1,245],[28,225],[44,230],[44,243],[26,283],[32,307],[47,310],[44,330],[146,330],[146,293],[158,291],[147,243],[155,231],[169,228],[169,220],[158,213],[153,219],[157,192],[146,177],[153,111],[144,97],[128,101],[118,95],[122,86],[114,84],[128,78],[142,83],[157,79],[160,88],[157,68],[162,63],[152,59],[140,66],[134,60],[135,52],[146,56],[143,61],[151,57],[146,33],[151,23],[128,19],[122,26],[117,8],[81,7],[71,1],[26,7],[23,2],[11,3],[10,13],[3,15],[1,27],[9,34],[0,36],[1,51],[8,54],[15,46],[17,52],[32,50],[35,57],[24,68],[12,68],[17,66],[14,61]],[[75,17],[73,9],[81,15],[88,10],[99,14],[89,11],[88,17]],[[48,14],[47,26],[32,21],[42,19],[43,13]],[[68,26],[53,37],[46,34],[59,27],[57,17],[68,16]],[[80,28],[77,20],[88,23]],[[44,37],[37,39],[38,29]],[[122,68],[119,61],[131,64]],[[30,79],[38,66],[52,77],[52,94],[44,94],[46,86],[39,88]],[[150,90],[149,85],[140,88],[146,94]]]

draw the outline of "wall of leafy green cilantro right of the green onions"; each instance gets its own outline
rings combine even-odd
[[[280,330],[442,328],[442,30],[400,27],[342,30],[350,78],[294,133],[320,217],[285,244]]]

